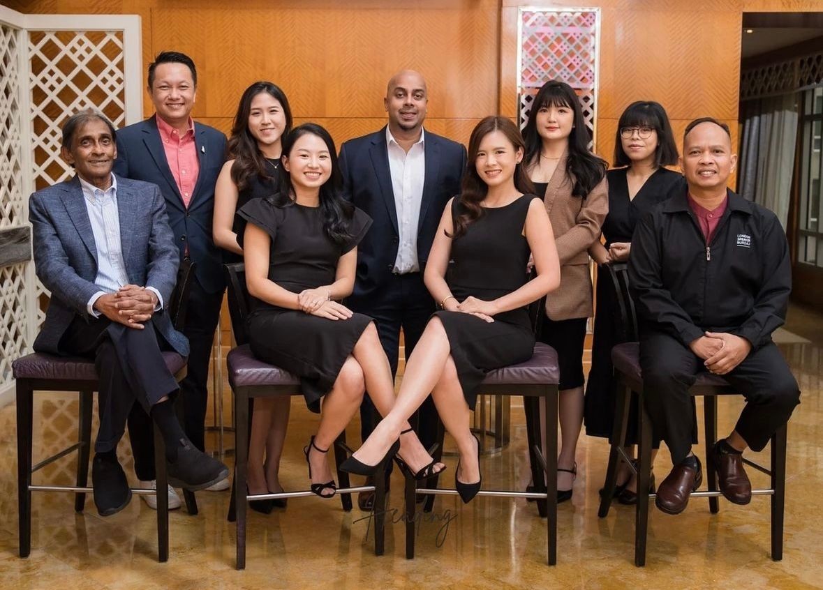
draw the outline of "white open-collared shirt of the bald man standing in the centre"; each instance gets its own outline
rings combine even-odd
[[[398,211],[398,257],[393,272],[399,274],[420,270],[417,260],[417,224],[420,221],[420,205],[423,200],[425,180],[425,133],[421,129],[417,140],[408,153],[386,127],[388,170],[392,175],[394,206]]]

